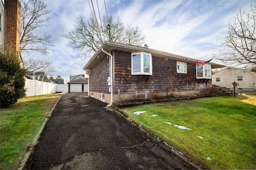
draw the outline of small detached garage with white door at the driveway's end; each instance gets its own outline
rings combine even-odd
[[[67,82],[69,93],[88,92],[88,80],[85,78],[78,78]]]

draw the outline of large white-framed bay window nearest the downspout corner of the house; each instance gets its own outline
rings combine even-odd
[[[152,56],[150,53],[132,53],[132,74],[152,75]]]

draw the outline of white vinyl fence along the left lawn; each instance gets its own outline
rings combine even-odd
[[[26,96],[39,96],[56,92],[68,93],[68,84],[53,84],[38,80],[26,79]]]

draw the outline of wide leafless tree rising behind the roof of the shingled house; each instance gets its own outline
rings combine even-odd
[[[145,40],[138,27],[125,27],[118,16],[104,16],[102,24],[93,16],[86,18],[81,14],[76,19],[74,29],[62,36],[68,39],[68,47],[82,55],[96,52],[105,41],[142,45]]]

